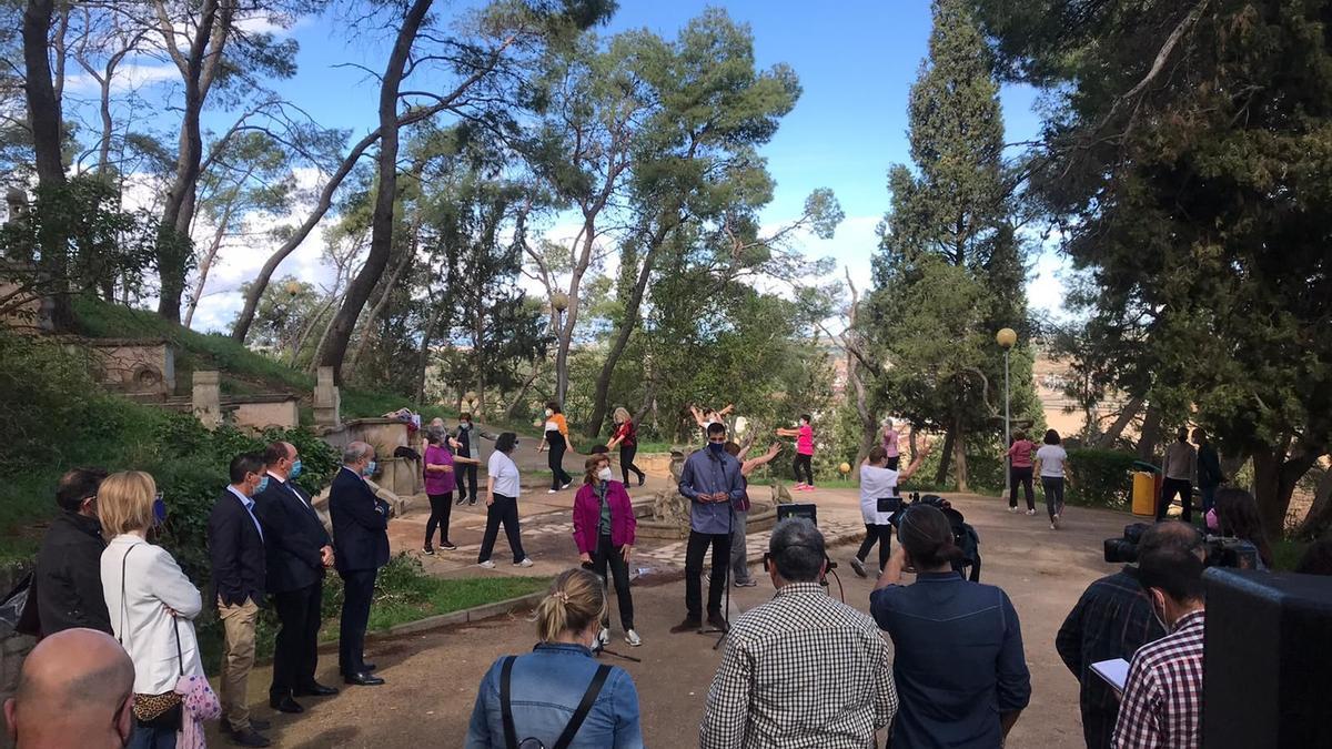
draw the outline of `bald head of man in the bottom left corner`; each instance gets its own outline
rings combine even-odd
[[[65,629],[23,662],[5,722],[19,749],[124,746],[131,733],[135,665],[109,634]]]

